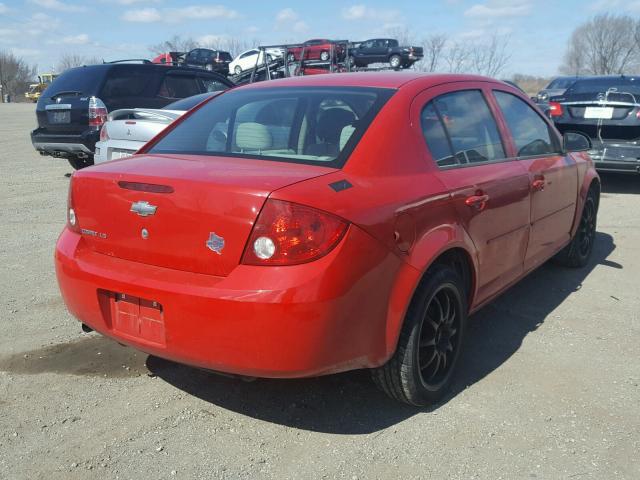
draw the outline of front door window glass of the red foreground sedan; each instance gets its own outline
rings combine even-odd
[[[549,126],[522,99],[506,92],[493,94],[511,131],[518,157],[548,155],[558,151]]]

